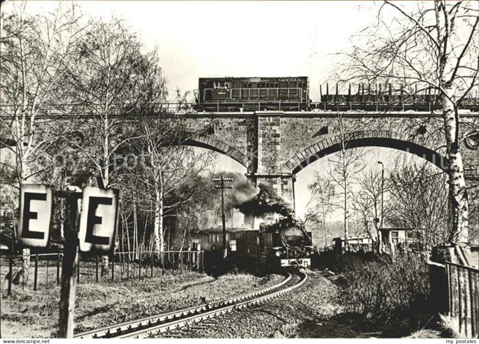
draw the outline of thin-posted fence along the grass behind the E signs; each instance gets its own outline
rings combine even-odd
[[[109,256],[108,267],[103,257],[80,253],[77,264],[77,283],[119,282],[175,275],[193,271],[202,272],[203,251],[136,251],[116,252]],[[30,254],[30,267],[23,271],[23,255],[2,254],[0,278],[7,295],[12,288],[47,289],[61,280],[63,253]]]

